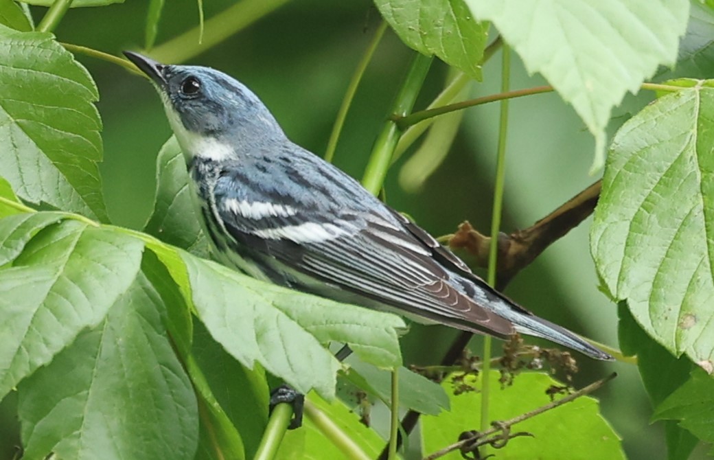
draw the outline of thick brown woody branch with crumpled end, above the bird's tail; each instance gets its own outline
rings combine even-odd
[[[563,206],[535,222],[528,229],[514,231],[510,235],[498,235],[497,289],[503,289],[513,276],[531,264],[545,248],[565,236],[595,209],[600,196],[601,181],[589,186]],[[491,237],[484,236],[464,222],[448,241],[454,249],[466,249],[476,256],[480,266],[488,266],[488,246]]]

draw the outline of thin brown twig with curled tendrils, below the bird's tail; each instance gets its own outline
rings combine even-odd
[[[526,412],[526,414],[515,416],[513,417],[513,419],[508,419],[506,421],[494,421],[491,424],[493,426],[491,429],[483,431],[483,433],[480,433],[478,431],[473,432],[471,436],[466,436],[464,439],[460,439],[458,442],[451,444],[451,446],[446,446],[445,448],[434,452],[430,456],[426,456],[424,460],[438,459],[439,457],[444,456],[451,451],[455,451],[456,449],[461,449],[462,453],[473,451],[474,449],[478,448],[478,446],[483,446],[484,444],[491,444],[492,446],[496,447],[496,449],[501,449],[501,447],[506,445],[508,439],[511,439],[516,436],[523,436],[523,433],[516,433],[515,435],[511,434],[511,426],[518,424],[521,421],[531,419],[532,417],[538,414],[543,414],[543,412],[545,411],[550,411],[551,409],[555,409],[558,406],[563,406],[563,404],[567,404],[570,401],[574,401],[580,396],[590,394],[593,391],[599,389],[604,384],[608,383],[608,381],[614,379],[617,375],[618,374],[616,372],[613,372],[609,376],[606,376],[604,379],[600,379],[594,382],[593,384],[585,386],[583,389],[575,391],[575,393],[573,394],[568,394],[568,396],[565,396],[563,399],[558,399],[558,401],[553,401],[550,404],[545,404],[545,406],[540,406],[538,409],[528,411]],[[501,434],[496,434],[499,432]],[[492,435],[496,436],[493,436],[491,438],[488,437]]]

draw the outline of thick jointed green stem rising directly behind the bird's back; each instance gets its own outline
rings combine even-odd
[[[393,116],[399,118],[411,111],[416,101],[416,96],[421,89],[421,85],[426,78],[426,73],[429,70],[431,61],[431,56],[424,56],[419,53],[414,56],[406,79],[394,101],[392,109]],[[392,155],[399,141],[399,136],[401,136],[401,129],[390,119],[386,121],[381,134],[379,134],[374,143],[372,155],[370,156],[362,178],[362,185],[375,195],[378,194],[382,188],[384,179],[387,176],[387,170],[391,164]]]

